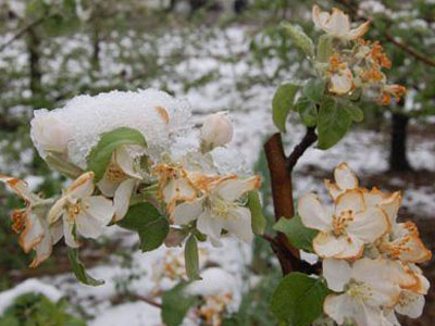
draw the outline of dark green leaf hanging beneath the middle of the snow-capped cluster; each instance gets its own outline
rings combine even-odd
[[[159,248],[170,231],[166,217],[149,202],[130,206],[117,225],[138,233],[142,251]]]

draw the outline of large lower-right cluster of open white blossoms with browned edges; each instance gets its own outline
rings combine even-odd
[[[302,223],[319,230],[314,252],[323,259],[323,277],[334,293],[324,312],[338,325],[398,326],[395,313],[422,314],[430,284],[417,263],[432,258],[412,222],[398,223],[400,192],[359,187],[346,163],[325,180],[334,201],[326,208],[309,193],[300,198]]]

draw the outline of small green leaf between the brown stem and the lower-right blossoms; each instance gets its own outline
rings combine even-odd
[[[315,229],[306,227],[299,215],[295,215],[289,220],[279,218],[273,226],[273,229],[285,234],[294,247],[307,252],[313,251],[312,241],[319,233]]]

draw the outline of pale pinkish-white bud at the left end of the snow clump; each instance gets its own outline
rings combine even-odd
[[[32,140],[39,152],[42,153],[42,158],[47,152],[66,152],[71,140],[71,130],[67,124],[41,110],[35,112],[30,126]]]

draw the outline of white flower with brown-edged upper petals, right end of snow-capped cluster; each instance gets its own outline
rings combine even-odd
[[[185,225],[197,220],[197,228],[219,246],[223,229],[250,243],[253,234],[251,214],[237,200],[260,186],[260,177],[239,179],[237,176],[210,178],[203,176],[196,180],[202,184],[203,196],[178,204],[171,217],[175,224]]]

